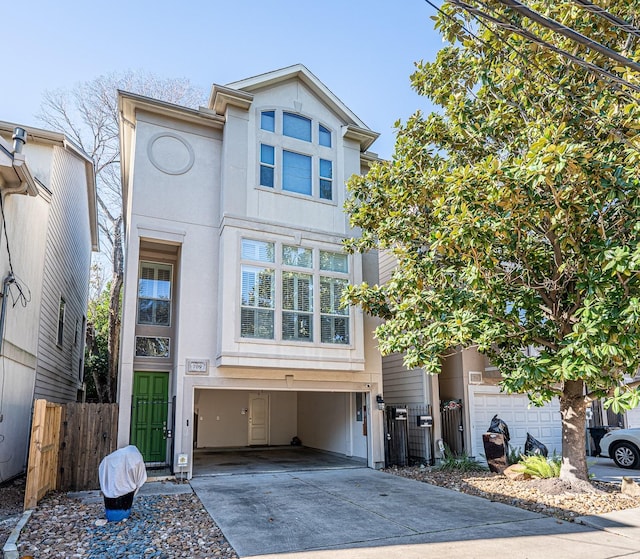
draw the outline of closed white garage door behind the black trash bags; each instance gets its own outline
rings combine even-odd
[[[471,454],[484,455],[482,435],[491,425],[491,418],[498,414],[509,427],[511,448],[524,452],[527,433],[544,443],[549,455],[562,451],[562,425],[560,403],[554,399],[541,408],[530,405],[522,394],[503,394],[496,386],[469,385],[469,414],[471,419]]]

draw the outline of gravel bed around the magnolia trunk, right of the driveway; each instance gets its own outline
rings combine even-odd
[[[568,521],[640,507],[640,497],[622,494],[615,483],[593,481],[597,492],[574,493],[557,478],[516,481],[488,471],[439,472],[420,466],[385,471]]]

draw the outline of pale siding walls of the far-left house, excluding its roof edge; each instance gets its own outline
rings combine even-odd
[[[85,162],[60,146],[36,141],[24,151],[29,170],[45,188],[36,197],[4,199],[17,283],[7,299],[0,357],[0,482],[26,468],[34,396],[76,399],[84,332],[74,343],[75,327],[78,320],[81,329],[86,316],[91,257]],[[0,284],[10,271],[2,237]],[[18,287],[24,300],[18,300]],[[56,345],[61,295],[67,302],[62,349]]]

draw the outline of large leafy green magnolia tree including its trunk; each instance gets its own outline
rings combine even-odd
[[[483,4],[640,84],[502,2]],[[633,37],[576,2],[527,4],[640,60]],[[640,13],[638,1],[601,4],[629,22]],[[349,184],[362,236],[348,247],[391,251],[398,266],[387,284],[353,286],[346,298],[385,319],[381,351],[404,352],[410,368],[438,373],[454,348],[477,347],[506,391],[535,404],[558,397],[560,475],[587,488],[589,400],[639,401],[625,376],[640,358],[640,96],[452,4],[436,21],[449,46],[417,65],[412,84],[439,111],[398,125],[392,160]]]

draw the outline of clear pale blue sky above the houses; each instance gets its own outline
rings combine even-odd
[[[111,72],[188,78],[208,92],[302,63],[381,133],[371,149],[382,157],[396,119],[429,110],[409,76],[442,47],[424,0],[8,0],[0,13],[0,120],[42,126],[45,90]]]

